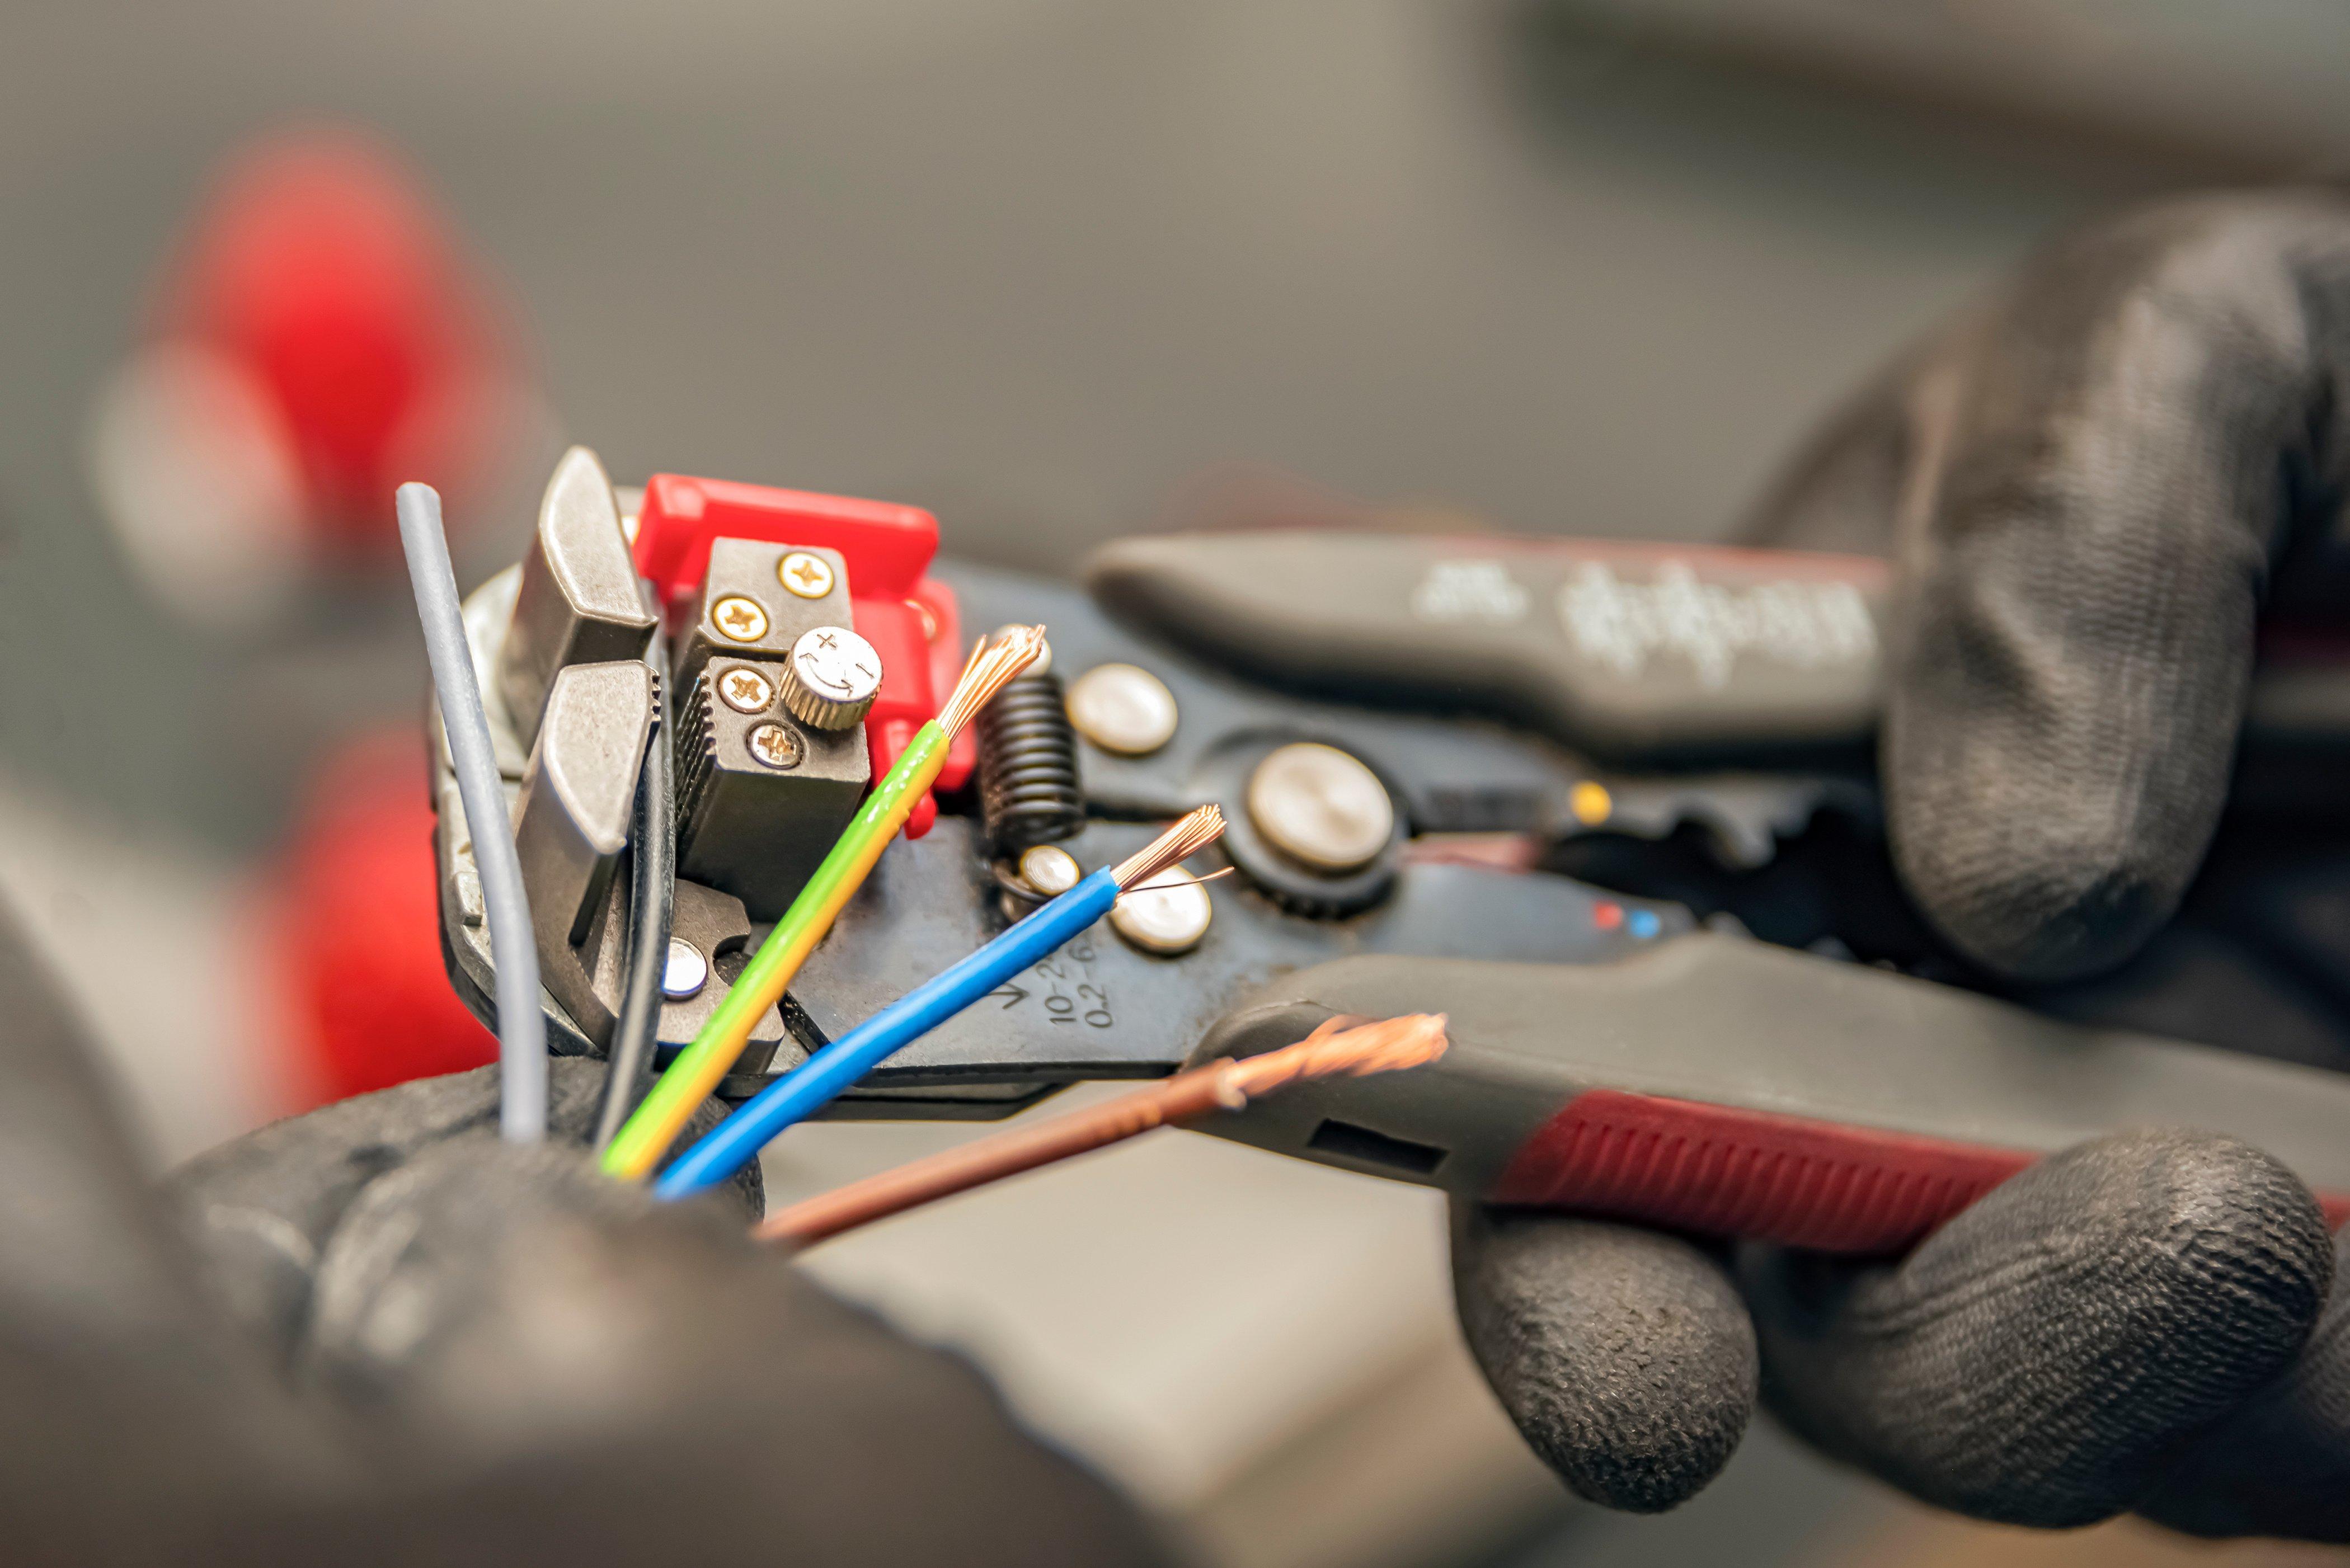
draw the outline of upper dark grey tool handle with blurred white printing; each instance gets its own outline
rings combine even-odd
[[[1248,679],[1488,712],[1617,762],[1866,743],[1892,604],[1859,555],[1318,529],[1126,538],[1088,585]],[[2350,644],[2268,658],[2247,736],[2350,743]]]

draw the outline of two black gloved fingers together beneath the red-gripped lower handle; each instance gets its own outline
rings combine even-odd
[[[1762,1403],[1814,1446],[1979,1519],[2350,1540],[2331,1281],[2308,1187],[2181,1131],[2047,1159],[1901,1262],[1741,1248],[1737,1288],[1676,1237],[1455,1218],[1462,1328],[1502,1406],[1574,1493],[1633,1512],[1720,1472],[1760,1363]]]

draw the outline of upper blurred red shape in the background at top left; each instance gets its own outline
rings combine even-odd
[[[157,331],[263,388],[329,545],[388,545],[392,487],[463,487],[510,348],[407,165],[343,129],[277,134],[214,181]]]

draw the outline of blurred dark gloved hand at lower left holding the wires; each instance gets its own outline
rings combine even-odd
[[[0,924],[7,1561],[1147,1563],[1144,1523],[745,1237],[496,1140],[496,1070],[141,1175]]]

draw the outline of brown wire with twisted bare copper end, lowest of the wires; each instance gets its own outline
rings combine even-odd
[[[1034,1171],[1072,1154],[1137,1138],[1159,1126],[1198,1121],[1220,1110],[1241,1110],[1253,1098],[1300,1079],[1363,1077],[1434,1063],[1445,1053],[1443,1013],[1412,1013],[1382,1023],[1332,1018],[1295,1046],[1243,1060],[1217,1060],[1177,1072],[1166,1084],[1119,1095],[1107,1105],[996,1133],[928,1159],[848,1182],[822,1197],[773,1213],[752,1234],[761,1241],[811,1246],[858,1225],[886,1220],[933,1199],[968,1192],[1006,1175]]]

